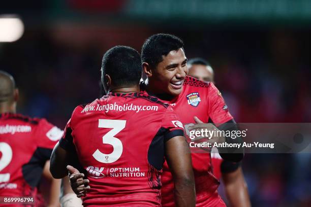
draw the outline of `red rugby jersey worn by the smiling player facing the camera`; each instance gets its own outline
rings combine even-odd
[[[141,88],[144,90],[143,83]],[[177,97],[171,101],[163,101],[173,106],[174,111],[180,117],[189,142],[191,140],[187,127],[195,123],[194,116],[205,123],[210,119],[216,126],[233,119],[224,98],[213,83],[205,83],[189,76],[186,76],[182,92]],[[220,202],[221,198],[216,191],[219,181],[212,174],[210,153],[202,149],[191,148],[191,151],[196,183],[196,206],[213,206]],[[174,185],[166,162],[163,165],[162,184],[162,205],[174,206],[172,193]]]

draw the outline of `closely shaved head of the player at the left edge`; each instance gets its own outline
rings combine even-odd
[[[13,102],[15,96],[15,81],[14,78],[4,72],[0,71],[0,103]]]

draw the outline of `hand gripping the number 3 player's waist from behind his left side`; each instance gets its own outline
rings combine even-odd
[[[67,165],[67,169],[69,170],[69,180],[72,190],[75,192],[78,198],[85,196],[85,194],[89,191],[89,180],[84,179],[84,174],[80,173],[78,169],[74,168],[71,165]]]

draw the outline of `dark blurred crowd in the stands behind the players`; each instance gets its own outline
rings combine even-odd
[[[188,58],[210,62],[237,122],[311,122],[309,30],[34,27],[19,41],[0,44],[0,70],[16,78],[19,113],[64,128],[77,105],[99,97],[106,50],[140,51],[158,32],[182,38]],[[243,170],[253,206],[311,206],[310,157],[247,154]]]

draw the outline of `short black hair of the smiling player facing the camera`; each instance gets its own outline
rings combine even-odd
[[[149,37],[141,49],[141,61],[155,67],[163,61],[163,55],[167,56],[170,51],[183,49],[183,42],[172,34],[153,34]]]

